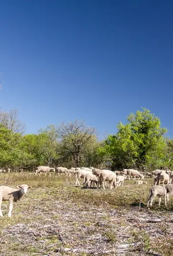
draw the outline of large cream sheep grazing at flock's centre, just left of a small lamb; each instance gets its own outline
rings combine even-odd
[[[99,174],[99,182],[97,187],[99,187],[99,184],[100,184],[100,188],[101,188],[101,184],[103,183],[103,189],[105,189],[105,182],[109,181],[110,190],[112,189],[112,186],[116,188],[116,178],[117,178],[117,175],[114,172],[109,170],[102,170]]]

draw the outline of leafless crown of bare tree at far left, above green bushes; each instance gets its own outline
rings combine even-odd
[[[0,123],[14,133],[25,132],[25,124],[18,119],[17,109],[12,109],[9,112],[0,110]]]

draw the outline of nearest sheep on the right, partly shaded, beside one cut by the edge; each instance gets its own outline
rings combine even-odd
[[[150,188],[148,200],[147,200],[147,203],[146,203],[147,207],[149,207],[149,206],[152,207],[153,200],[156,196],[159,197],[159,206],[160,206],[160,202],[161,202],[161,197],[164,196],[164,204],[166,206],[166,189],[165,189],[165,187],[152,186]]]

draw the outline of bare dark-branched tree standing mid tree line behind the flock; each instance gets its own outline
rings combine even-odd
[[[57,129],[61,143],[67,154],[72,155],[76,167],[79,166],[83,146],[95,133],[95,128],[87,127],[80,120],[62,123]]]

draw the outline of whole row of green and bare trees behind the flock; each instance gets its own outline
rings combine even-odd
[[[39,165],[94,166],[100,169],[153,170],[173,167],[173,140],[154,114],[142,108],[99,140],[96,129],[80,120],[24,134],[18,110],[0,110],[0,168],[34,170]]]

